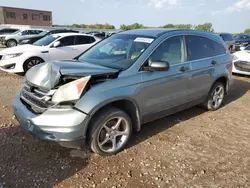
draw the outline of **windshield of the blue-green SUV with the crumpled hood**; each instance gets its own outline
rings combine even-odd
[[[93,46],[78,60],[109,68],[125,70],[154,41],[153,37],[116,34]]]

